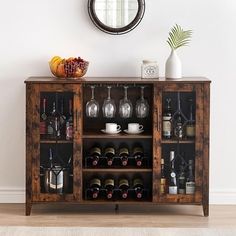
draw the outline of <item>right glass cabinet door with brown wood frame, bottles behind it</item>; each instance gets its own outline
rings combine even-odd
[[[197,86],[157,89],[154,201],[200,203],[202,199],[202,90]],[[155,129],[155,128],[154,128]]]

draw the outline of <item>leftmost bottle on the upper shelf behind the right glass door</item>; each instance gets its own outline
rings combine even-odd
[[[164,107],[163,116],[162,116],[162,136],[163,138],[171,138],[171,118],[172,118],[172,109],[171,109],[171,99],[166,99],[166,105]]]

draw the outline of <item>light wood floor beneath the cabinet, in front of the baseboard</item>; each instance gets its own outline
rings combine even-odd
[[[0,204],[0,226],[177,227],[236,228],[236,205],[211,205],[203,217],[201,206],[33,205],[31,216],[24,204]]]

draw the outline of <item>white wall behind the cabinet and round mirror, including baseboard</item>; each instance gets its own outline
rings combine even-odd
[[[163,75],[166,38],[178,23],[193,29],[179,55],[184,75],[212,80],[211,202],[236,203],[236,1],[146,0],[134,31],[111,36],[87,14],[87,0],[2,1],[0,7],[0,201],[23,201],[25,89],[32,75],[50,75],[53,55],[82,56],[88,76],[140,76],[142,59],[156,59]]]

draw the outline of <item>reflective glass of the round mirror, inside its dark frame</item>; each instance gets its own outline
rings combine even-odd
[[[94,10],[104,25],[122,28],[134,20],[139,6],[137,0],[96,0]]]

